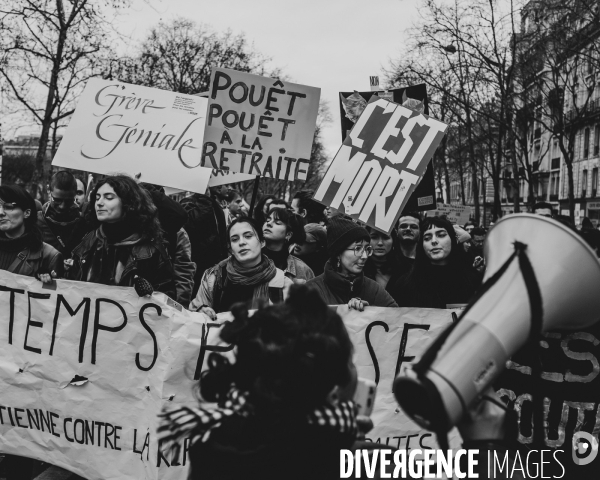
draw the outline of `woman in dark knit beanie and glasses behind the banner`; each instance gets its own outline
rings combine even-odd
[[[381,285],[365,277],[363,270],[373,254],[369,232],[341,215],[327,227],[329,260],[322,275],[309,280],[328,305],[348,304],[362,311],[366,306],[397,307]]]

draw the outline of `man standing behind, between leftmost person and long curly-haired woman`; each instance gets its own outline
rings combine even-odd
[[[88,233],[79,205],[75,201],[77,181],[65,170],[56,172],[50,179],[48,202],[37,214],[37,222],[42,239],[62,253],[65,259],[71,258],[73,249]]]

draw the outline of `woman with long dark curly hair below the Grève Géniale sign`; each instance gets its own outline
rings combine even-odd
[[[154,290],[175,299],[173,266],[149,193],[127,175],[98,182],[86,220],[94,230],[73,250],[67,278]]]

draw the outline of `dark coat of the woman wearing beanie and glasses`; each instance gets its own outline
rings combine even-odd
[[[352,282],[336,272],[331,264],[325,264],[325,271],[317,278],[306,282],[319,290],[327,305],[341,305],[352,298],[369,302],[371,307],[397,307],[396,302],[377,282],[359,275]]]

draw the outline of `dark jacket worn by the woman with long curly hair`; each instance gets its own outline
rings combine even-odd
[[[115,285],[132,287],[136,275],[146,279],[154,291],[162,292],[177,298],[173,265],[163,248],[154,239],[149,240],[139,235],[132,235],[116,243],[113,247],[126,250],[126,261],[117,266]],[[69,266],[66,278],[81,282],[101,283],[99,274],[93,268],[94,257],[101,250],[108,248],[102,228],[88,233],[81,243],[73,250],[72,264]]]

